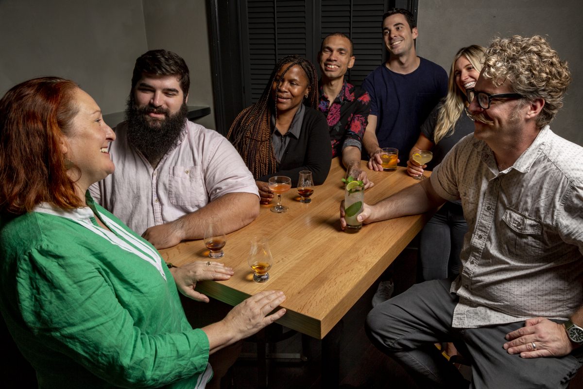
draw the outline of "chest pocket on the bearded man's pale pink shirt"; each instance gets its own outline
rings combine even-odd
[[[205,181],[200,166],[173,166],[168,179],[168,197],[174,205],[204,206],[207,203]]]

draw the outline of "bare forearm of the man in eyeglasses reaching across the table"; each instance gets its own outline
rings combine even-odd
[[[372,205],[373,212],[369,220],[378,222],[406,215],[418,215],[437,208],[445,201],[433,190],[430,180],[424,180]]]

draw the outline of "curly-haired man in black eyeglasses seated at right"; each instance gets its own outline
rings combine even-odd
[[[495,38],[468,90],[473,136],[430,180],[364,205],[370,223],[462,201],[459,276],[367,318],[374,344],[422,387],[468,387],[437,342],[454,342],[476,388],[566,388],[583,363],[583,148],[549,128],[570,82],[545,38]]]

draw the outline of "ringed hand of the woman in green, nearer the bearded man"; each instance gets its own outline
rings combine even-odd
[[[209,298],[194,290],[196,282],[210,279],[224,281],[231,278],[231,275],[234,274],[233,269],[230,267],[213,261],[191,262],[180,267],[171,268],[170,272],[182,295],[205,303],[209,302]]]

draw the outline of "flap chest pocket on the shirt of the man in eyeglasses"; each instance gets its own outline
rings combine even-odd
[[[540,257],[543,253],[543,225],[514,209],[508,208],[502,216],[505,229],[502,247],[511,258]]]

